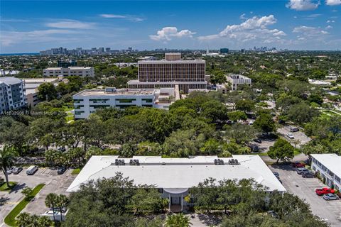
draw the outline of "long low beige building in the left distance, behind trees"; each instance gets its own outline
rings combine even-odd
[[[94,77],[93,67],[49,67],[43,70],[44,77],[58,77],[58,76],[80,76],[80,77]]]

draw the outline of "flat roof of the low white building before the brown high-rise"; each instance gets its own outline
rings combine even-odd
[[[115,96],[154,94],[155,89],[116,89],[116,92],[105,92],[105,89],[87,89],[75,94],[75,96]]]

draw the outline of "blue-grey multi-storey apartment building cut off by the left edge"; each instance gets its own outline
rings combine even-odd
[[[0,77],[0,113],[26,105],[23,82],[16,77]]]

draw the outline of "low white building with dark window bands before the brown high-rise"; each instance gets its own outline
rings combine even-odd
[[[88,118],[99,108],[129,106],[168,109],[175,100],[175,89],[88,89],[72,96],[75,119]]]

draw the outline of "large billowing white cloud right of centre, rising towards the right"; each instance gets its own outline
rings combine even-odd
[[[281,36],[286,33],[278,29],[269,29],[268,26],[276,23],[274,15],[257,17],[247,19],[240,24],[227,26],[223,31],[214,35],[205,35],[198,37],[199,40],[215,40],[220,38],[228,38],[229,40],[237,40],[247,42],[249,40],[259,40],[264,43],[271,43],[281,40]]]

